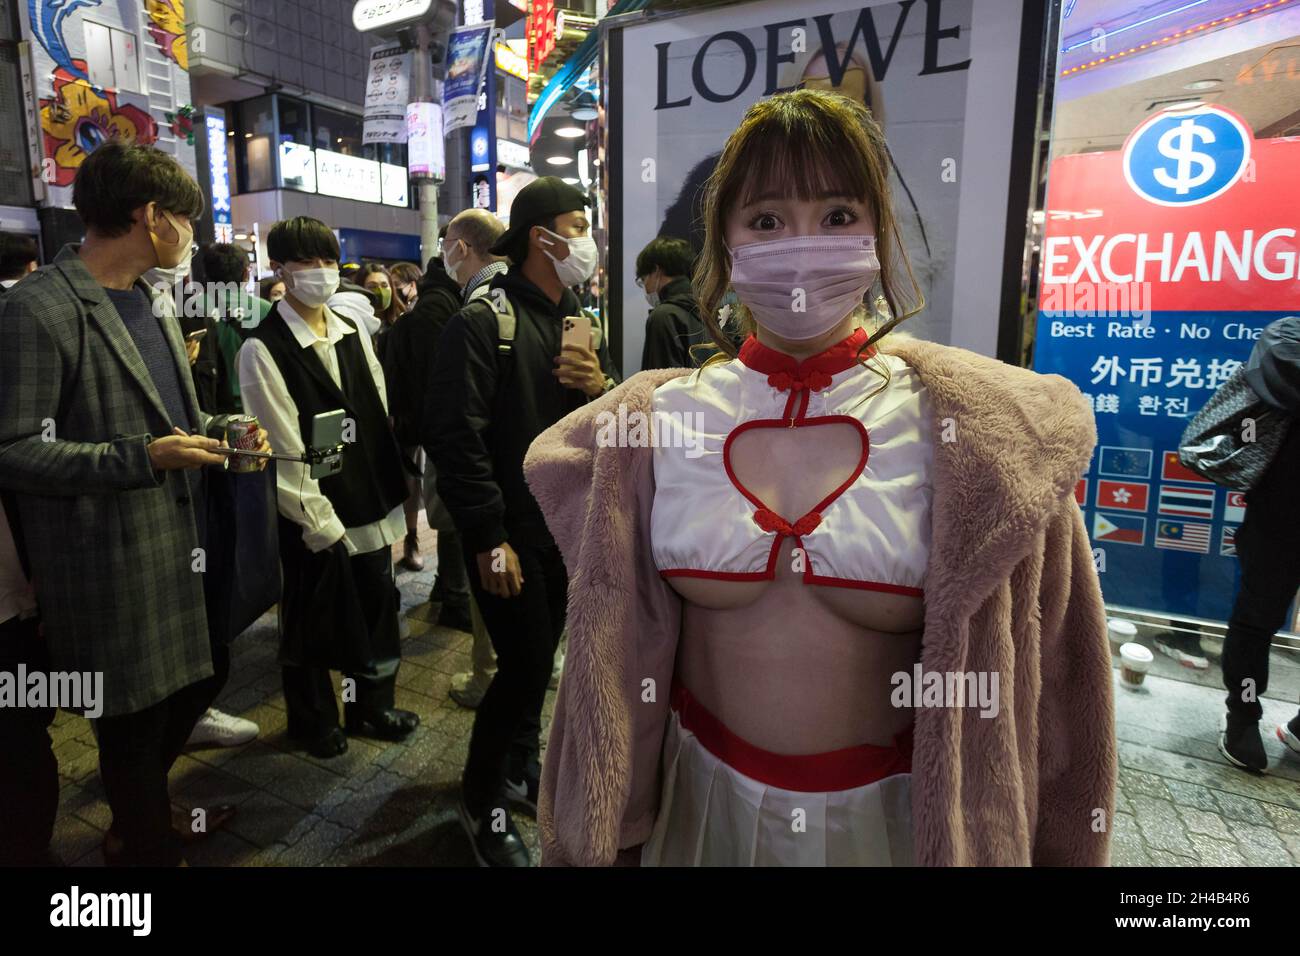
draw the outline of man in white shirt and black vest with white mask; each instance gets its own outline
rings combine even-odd
[[[394,708],[402,652],[391,549],[406,533],[407,490],[370,338],[326,306],[338,289],[338,239],[300,216],[272,228],[266,251],[286,294],[239,351],[244,410],[290,455],[308,446],[313,416],[346,414],[342,471],[317,480],[306,464],[280,462],[277,472],[289,734],[333,757],[347,739],[332,669],[352,682],[348,732],[400,740],[420,722]]]

